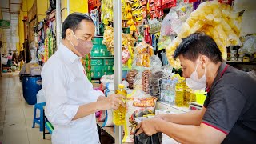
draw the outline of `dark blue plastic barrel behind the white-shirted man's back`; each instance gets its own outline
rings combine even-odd
[[[41,89],[41,77],[24,76],[22,78],[23,97],[29,105],[34,105],[37,103],[37,94]]]

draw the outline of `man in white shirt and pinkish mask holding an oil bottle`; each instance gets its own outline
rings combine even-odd
[[[98,144],[95,112],[125,106],[122,95],[106,98],[86,77],[81,58],[92,49],[94,29],[86,14],[70,14],[63,22],[62,44],[43,66],[42,89],[54,144]]]

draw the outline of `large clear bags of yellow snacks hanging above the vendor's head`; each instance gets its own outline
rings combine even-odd
[[[180,62],[172,57],[180,44],[181,38],[186,38],[195,32],[203,32],[214,39],[226,60],[228,46],[240,46],[242,16],[231,10],[230,6],[218,1],[202,2],[194,10],[186,22],[182,24],[178,37],[166,48],[166,55],[171,66],[179,68]]]

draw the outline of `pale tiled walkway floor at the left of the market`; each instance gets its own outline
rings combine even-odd
[[[18,73],[2,74],[0,77],[0,143],[46,144],[50,134],[42,138],[38,125],[32,128],[33,106],[22,95],[22,83]]]

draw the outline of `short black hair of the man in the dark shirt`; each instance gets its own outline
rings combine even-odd
[[[174,52],[174,58],[182,56],[195,62],[200,54],[206,55],[214,63],[222,62],[222,52],[213,38],[202,33],[190,34],[182,39],[181,44]]]

